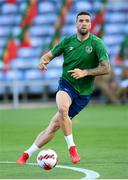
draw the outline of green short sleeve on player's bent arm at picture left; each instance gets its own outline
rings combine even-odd
[[[52,49],[52,55],[54,57],[61,55],[64,52],[64,43],[65,43],[65,38],[63,38],[57,45],[55,45]]]

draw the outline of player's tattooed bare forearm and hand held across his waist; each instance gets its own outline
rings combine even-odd
[[[71,73],[71,76],[74,77],[75,79],[79,79],[85,76],[99,76],[99,75],[104,75],[104,74],[109,74],[110,73],[110,64],[108,61],[101,61],[96,68],[92,69],[73,69],[68,72]]]

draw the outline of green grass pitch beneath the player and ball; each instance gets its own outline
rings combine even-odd
[[[56,107],[0,110],[0,161],[14,162],[47,127]],[[101,179],[128,178],[128,105],[89,105],[73,120],[81,162],[73,165],[61,130],[43,148],[55,150],[60,165],[98,172]],[[36,152],[28,162],[36,162]],[[0,179],[80,179],[68,169],[44,171],[37,166],[1,164]]]

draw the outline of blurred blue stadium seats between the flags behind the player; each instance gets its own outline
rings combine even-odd
[[[0,55],[2,55],[10,32],[12,32],[14,38],[19,42],[18,38],[21,33],[20,22],[27,7],[27,0],[17,0],[16,4],[8,4],[4,1],[1,1],[0,3]],[[94,17],[96,10],[101,6],[101,3],[100,0],[94,2],[89,0],[74,0],[61,29],[62,37],[76,32],[76,13],[87,10],[92,14],[92,17]],[[29,82],[28,93],[42,93],[44,92],[43,85],[46,85],[46,82],[49,82],[50,80],[51,82],[53,80],[56,80],[57,82],[59,80],[63,63],[63,58],[61,56],[54,59],[54,61],[48,65],[49,71],[44,73],[44,75],[42,75],[37,68],[40,56],[43,52],[48,50],[50,42],[55,34],[54,24],[57,20],[61,6],[62,1],[38,0],[38,14],[29,29],[32,45],[29,48],[19,48],[18,56],[11,61],[11,70],[6,73],[4,79],[3,72],[0,71],[0,81],[9,82],[14,81],[15,78],[17,78],[17,80]],[[105,13],[103,39],[112,64],[114,63],[115,56],[120,50],[120,45],[125,34],[128,32],[128,16],[126,16],[126,10],[126,1],[119,1],[116,3],[114,1],[108,1]],[[40,85],[38,84],[37,87],[32,84],[33,80],[39,80]],[[57,84],[50,83],[49,91],[56,92],[56,90]],[[10,87],[10,92],[12,91],[12,87]],[[22,88],[19,88],[20,93],[24,93],[24,91],[25,87],[22,86]],[[4,89],[2,90],[1,88],[0,93],[4,93]]]

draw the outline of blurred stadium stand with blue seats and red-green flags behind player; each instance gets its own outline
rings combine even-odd
[[[40,57],[64,36],[76,33],[80,11],[92,17],[91,33],[104,40],[112,73],[95,81],[92,103],[128,102],[127,0],[0,0],[0,105],[55,101],[63,57],[48,71]]]

